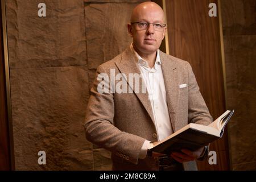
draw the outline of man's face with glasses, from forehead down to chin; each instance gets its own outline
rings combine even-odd
[[[164,15],[160,10],[141,9],[137,11],[132,21],[164,24]],[[166,27],[156,31],[153,24],[150,24],[146,30],[137,30],[136,26],[138,24],[128,24],[128,31],[133,36],[133,46],[135,49],[143,54],[155,53],[166,34]]]

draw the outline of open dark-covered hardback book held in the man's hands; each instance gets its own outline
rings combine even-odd
[[[180,151],[182,148],[195,151],[207,146],[210,142],[221,138],[226,124],[232,117],[234,110],[227,110],[208,126],[189,123],[169,137],[155,142],[149,150],[162,154],[170,154],[172,151]]]

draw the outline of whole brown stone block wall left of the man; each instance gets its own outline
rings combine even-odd
[[[139,2],[6,1],[16,169],[111,169],[110,152],[85,139],[85,108],[97,66],[131,43],[126,24]]]

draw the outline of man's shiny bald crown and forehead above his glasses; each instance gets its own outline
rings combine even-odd
[[[143,2],[134,8],[133,13],[131,14],[131,22],[146,20],[150,17],[154,17],[154,19],[165,23],[162,7],[154,2]]]

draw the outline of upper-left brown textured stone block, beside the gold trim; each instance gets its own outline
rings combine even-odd
[[[84,3],[46,0],[6,1],[10,68],[86,65]]]

